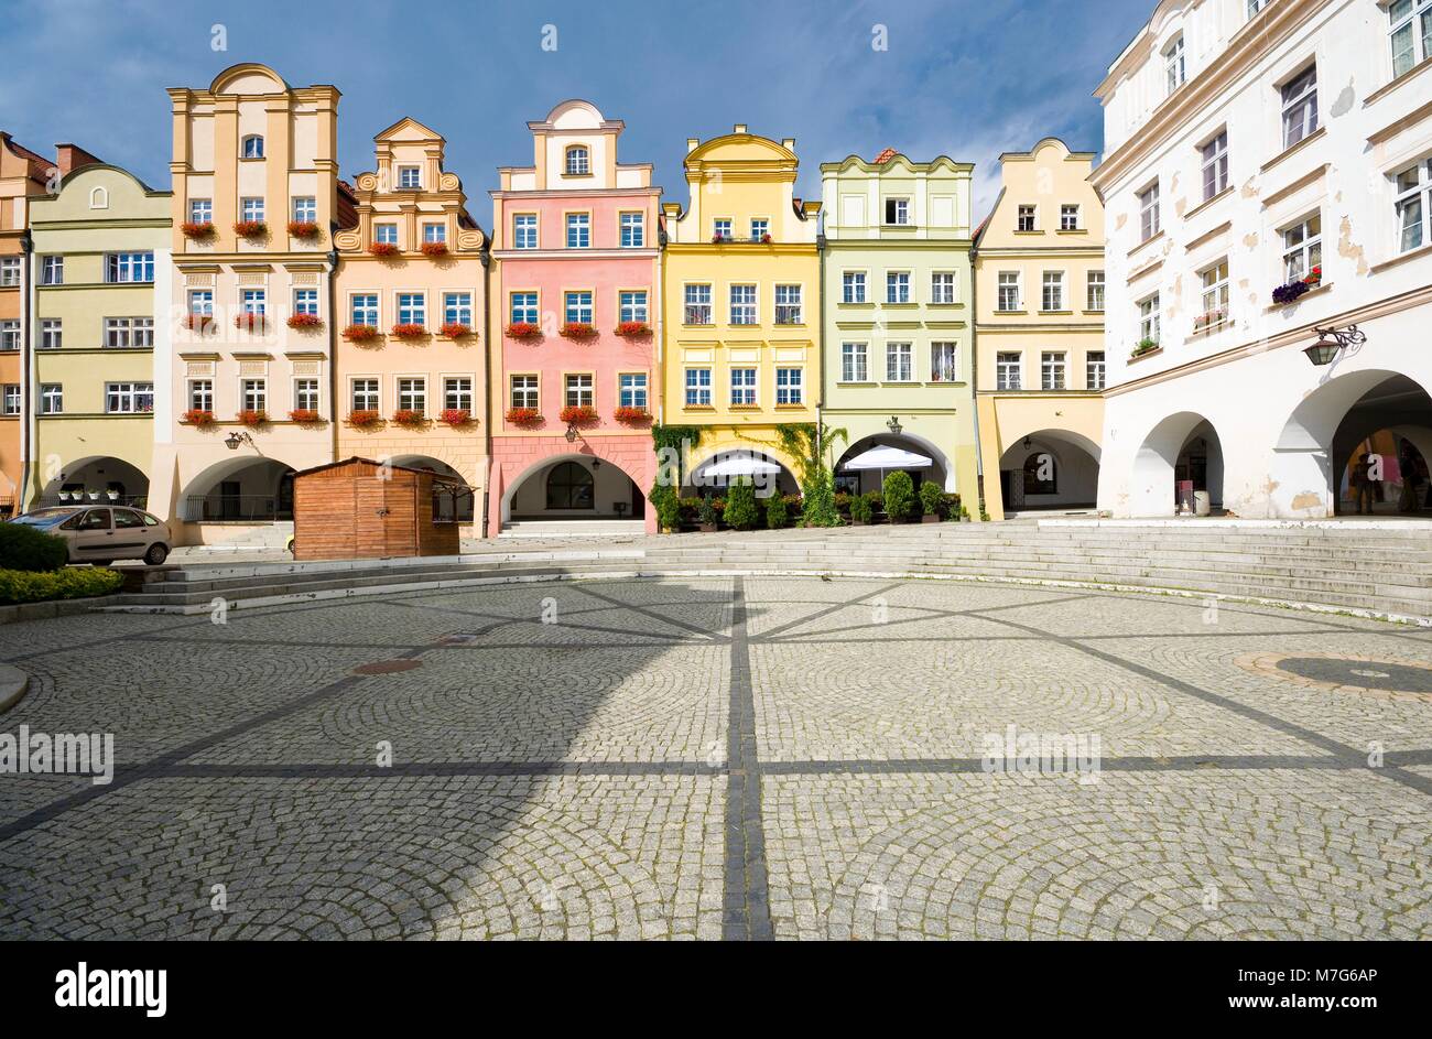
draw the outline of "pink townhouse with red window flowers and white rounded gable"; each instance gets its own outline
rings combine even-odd
[[[488,535],[513,522],[644,520],[660,337],[650,163],[584,100],[528,123],[534,165],[493,192]]]

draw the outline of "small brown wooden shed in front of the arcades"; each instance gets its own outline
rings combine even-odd
[[[294,476],[294,559],[458,555],[457,503],[473,489],[451,476],[348,459]]]

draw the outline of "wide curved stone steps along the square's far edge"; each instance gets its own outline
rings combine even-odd
[[[825,573],[1173,590],[1432,625],[1432,523],[1045,520],[483,542],[463,556],[133,568],[110,609],[199,613],[414,589],[583,576]]]

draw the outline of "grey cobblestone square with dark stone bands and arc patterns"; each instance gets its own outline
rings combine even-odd
[[[17,623],[0,659],[0,734],[117,762],[0,775],[0,937],[1432,937],[1432,702],[1382,695],[1426,681],[1411,628],[590,580]]]

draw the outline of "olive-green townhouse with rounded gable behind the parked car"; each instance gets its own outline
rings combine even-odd
[[[143,506],[153,456],[155,348],[169,337],[170,192],[109,165],[32,204],[33,423],[24,507]],[[166,300],[156,300],[155,287]]]

